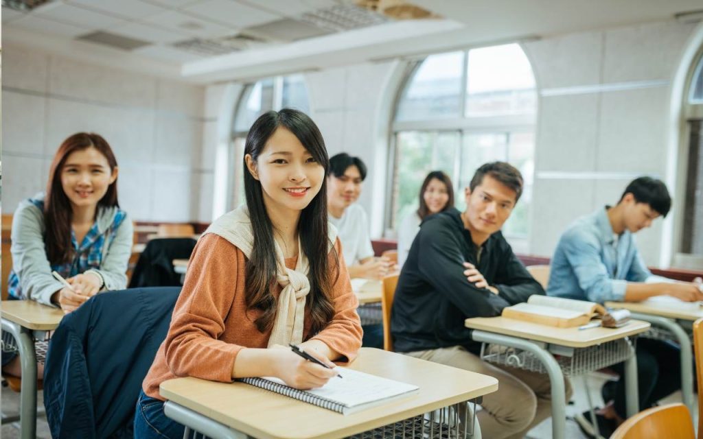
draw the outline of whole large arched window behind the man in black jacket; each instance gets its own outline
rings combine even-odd
[[[387,226],[418,208],[425,175],[445,171],[464,209],[463,188],[477,167],[503,160],[520,169],[525,188],[503,233],[529,233],[536,117],[534,75],[517,44],[431,55],[408,77],[396,105],[393,184]],[[524,242],[527,242],[524,240]]]

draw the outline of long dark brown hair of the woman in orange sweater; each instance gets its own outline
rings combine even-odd
[[[279,127],[288,129],[300,140],[315,161],[325,168],[326,177],[329,172],[329,159],[325,140],[315,122],[307,114],[298,110],[284,108],[279,112],[269,111],[262,114],[247,135],[244,147],[245,157],[249,154],[255,162],[264,150],[266,142]],[[244,169],[247,169],[246,159]],[[257,181],[249,171],[244,172],[244,192],[254,233],[252,254],[245,266],[245,299],[248,309],[262,311],[262,315],[254,323],[259,332],[264,332],[273,327],[277,306],[271,293],[276,285],[277,271],[273,224],[266,214],[261,182]],[[298,221],[301,250],[307,256],[310,266],[308,272],[310,292],[305,306],[312,320],[311,334],[324,329],[335,313],[330,293],[333,283],[339,277],[339,266],[334,248],[332,257],[335,261],[330,264],[330,256],[328,256],[330,240],[327,226],[327,178],[323,178],[320,192],[302,210]],[[335,275],[330,273],[330,269],[335,270]]]

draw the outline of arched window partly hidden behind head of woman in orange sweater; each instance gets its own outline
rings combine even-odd
[[[235,178],[232,180],[232,196],[228,197],[231,199],[228,209],[245,202],[242,158],[249,129],[257,117],[267,111],[278,111],[281,108],[295,108],[305,113],[310,112],[307,86],[302,74],[261,79],[254,84],[247,84],[243,89],[232,126],[233,154],[231,157],[234,163],[231,169],[235,169]]]

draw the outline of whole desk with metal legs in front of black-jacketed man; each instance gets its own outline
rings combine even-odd
[[[608,348],[609,342],[616,343],[617,340],[641,334],[650,328],[650,324],[647,322],[631,320],[624,327],[617,329],[598,327],[579,331],[578,328],[555,328],[505,317],[475,317],[466,319],[465,325],[474,329],[472,339],[475,341],[521,350],[541,363],[549,376],[551,385],[552,436],[555,439],[566,438],[566,398],[564,372],[560,362],[557,362],[553,355],[558,354],[560,358],[566,358],[567,360],[571,358],[571,372],[583,373],[586,372],[586,368],[589,366],[592,366],[592,369],[600,369],[622,360],[608,362],[607,364],[602,361],[597,363],[595,359],[598,358],[598,350],[603,351],[602,358],[606,358],[605,353],[609,354],[607,358],[617,358],[615,355],[610,355],[612,350]],[[581,361],[579,350],[588,354],[586,356],[588,360]],[[483,352],[484,349],[482,349]],[[624,361],[627,414],[632,416],[639,411],[638,383],[637,359],[634,348],[629,343],[626,344],[626,354]],[[622,355],[619,356],[621,357]],[[516,362],[520,360],[518,355],[505,355],[504,358],[506,363],[510,364],[510,360],[512,360],[513,364],[510,365],[520,367],[520,362]],[[579,361],[574,361],[576,358],[579,358]],[[574,362],[576,366],[574,366]]]

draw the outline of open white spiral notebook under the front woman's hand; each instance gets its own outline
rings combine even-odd
[[[239,381],[341,414],[351,414],[376,407],[419,391],[418,386],[412,384],[344,367],[338,367],[338,369],[344,378],[335,377],[324,386],[309,391],[286,386],[283,380],[273,376],[243,378]]]

